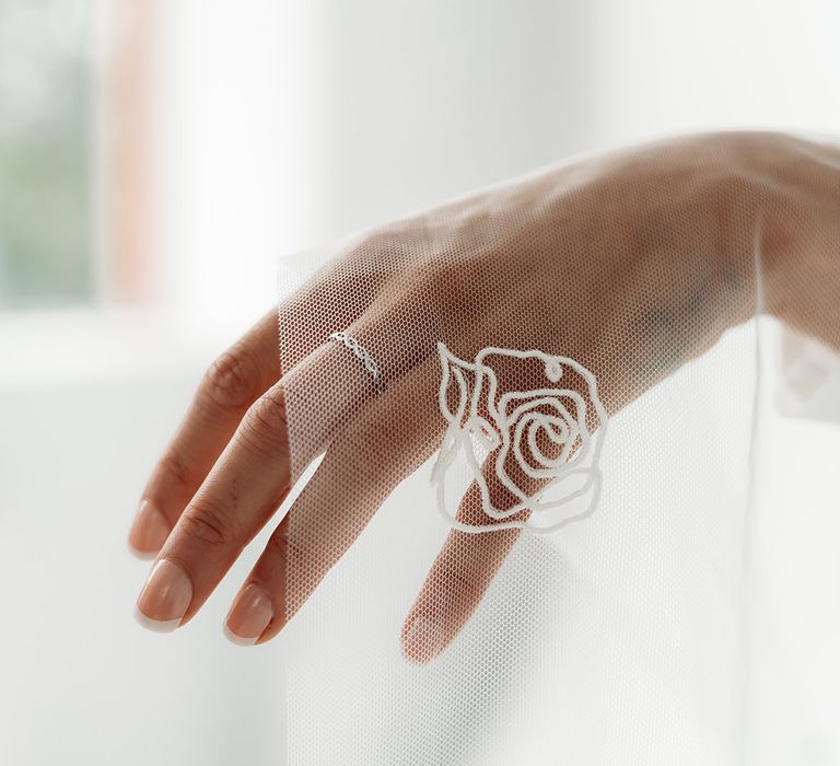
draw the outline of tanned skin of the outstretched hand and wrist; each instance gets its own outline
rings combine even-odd
[[[364,268],[376,251],[372,241],[385,248],[416,242],[422,255],[392,262],[397,267],[389,270]],[[441,242],[469,245],[456,268],[438,257]],[[303,466],[326,451],[240,592],[247,600],[256,585],[270,603],[271,618],[256,637],[265,643],[389,491],[440,444],[439,337],[469,359],[466,349],[488,345],[540,348],[556,335],[547,322],[585,326],[546,350],[595,372],[615,414],[757,312],[840,348],[839,242],[840,151],[755,132],[685,137],[581,160],[384,227],[281,306],[285,320],[303,326],[301,360],[292,369],[280,365],[275,311],[210,367],[143,490],[168,536],[150,545],[137,523],[129,542],[189,578],[184,625],[271,520]],[[342,388],[350,374],[346,349],[325,341],[315,323],[307,334],[308,315],[328,300],[325,290],[338,286],[341,294],[342,268],[369,275],[353,293],[358,305],[347,306],[350,334],[375,347],[382,327],[402,325],[411,338],[377,347],[377,359],[400,371],[383,394],[365,387],[363,373],[357,387]],[[475,285],[482,286],[480,294]],[[562,301],[559,286],[567,286]],[[423,324],[415,306],[431,309],[436,323]],[[580,316],[591,321],[575,323]],[[528,390],[538,381],[512,383]],[[349,392],[347,401],[329,395],[339,390]],[[320,419],[306,429],[290,419],[291,397],[301,391],[323,399]],[[383,423],[395,418],[401,428],[392,433]],[[305,433],[294,454],[290,431]],[[360,465],[360,445],[375,460]],[[538,489],[515,465],[510,471],[520,487]],[[492,468],[485,477],[494,506],[513,502]],[[342,508],[335,510],[329,500],[337,494]],[[492,523],[477,485],[457,518]],[[450,533],[406,617],[401,641],[409,659],[428,662],[457,636],[520,534]],[[418,624],[424,631],[412,630]]]

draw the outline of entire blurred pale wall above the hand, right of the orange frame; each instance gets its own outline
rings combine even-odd
[[[176,0],[156,28],[159,289],[205,328],[261,312],[282,253],[570,153],[840,130],[832,0]]]

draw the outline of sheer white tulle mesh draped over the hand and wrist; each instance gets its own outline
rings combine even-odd
[[[284,259],[292,763],[746,757],[755,317],[840,346],[839,158],[660,141]]]

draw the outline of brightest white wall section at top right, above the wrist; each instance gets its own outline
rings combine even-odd
[[[593,9],[598,142],[726,127],[840,131],[833,0]]]

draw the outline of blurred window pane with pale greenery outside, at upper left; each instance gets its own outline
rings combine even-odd
[[[0,309],[91,299],[89,14],[0,0]]]

